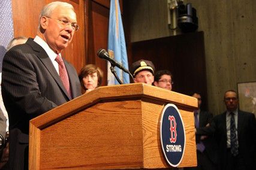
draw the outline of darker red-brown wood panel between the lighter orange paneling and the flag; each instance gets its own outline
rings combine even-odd
[[[119,0],[121,13],[122,1]],[[107,62],[97,57],[100,48],[107,49],[110,0],[85,1],[86,6],[86,64],[92,63],[104,72],[102,85],[107,85]]]

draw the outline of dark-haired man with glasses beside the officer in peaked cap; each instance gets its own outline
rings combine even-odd
[[[168,70],[160,70],[155,72],[155,80],[153,85],[162,89],[171,90],[173,88],[173,75]]]

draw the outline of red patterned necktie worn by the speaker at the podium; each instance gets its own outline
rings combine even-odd
[[[64,84],[65,89],[68,92],[68,95],[71,98],[71,90],[70,90],[70,80],[68,79],[68,72],[64,65],[64,62],[61,56],[57,55],[56,62],[59,64],[59,77],[61,77],[62,83]]]

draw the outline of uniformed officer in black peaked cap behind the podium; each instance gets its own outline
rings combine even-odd
[[[146,83],[152,85],[154,81],[155,66],[149,60],[138,60],[130,66],[130,72],[134,77],[134,83]]]

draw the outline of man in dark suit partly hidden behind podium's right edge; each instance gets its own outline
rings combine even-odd
[[[209,111],[201,110],[201,95],[199,92],[194,92],[191,95],[197,98],[198,110],[194,111],[195,127],[206,127],[209,125],[213,116]],[[197,167],[185,169],[218,169],[218,155],[216,152],[216,145],[212,136],[196,135],[195,141],[197,144]]]

